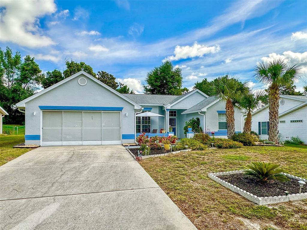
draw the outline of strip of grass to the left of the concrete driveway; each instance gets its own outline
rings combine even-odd
[[[0,135],[0,166],[32,150],[31,148],[13,148],[14,145],[24,142],[25,138],[21,135]]]

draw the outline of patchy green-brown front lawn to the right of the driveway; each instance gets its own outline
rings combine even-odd
[[[278,163],[307,178],[305,146],[207,149],[140,161],[199,230],[307,230],[307,200],[255,205],[208,178],[208,172],[245,169],[251,161]]]

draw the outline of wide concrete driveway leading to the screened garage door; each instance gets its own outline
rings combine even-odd
[[[0,167],[0,229],[196,227],[120,145],[40,147]]]

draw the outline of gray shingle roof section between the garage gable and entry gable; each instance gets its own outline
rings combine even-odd
[[[164,104],[168,105],[176,101],[177,95],[159,95],[159,94],[122,94],[137,104]],[[185,94],[184,94],[185,95]]]

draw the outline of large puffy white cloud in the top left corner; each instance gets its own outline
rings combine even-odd
[[[53,0],[0,2],[0,41],[13,42],[25,47],[45,47],[55,44],[50,37],[41,35],[39,18],[56,11]]]

